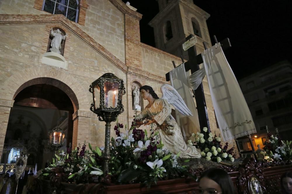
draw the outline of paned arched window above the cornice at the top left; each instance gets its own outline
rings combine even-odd
[[[78,0],[44,0],[43,10],[51,14],[62,14],[73,22],[78,22]]]

